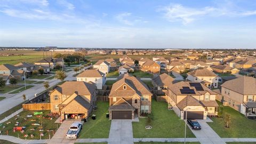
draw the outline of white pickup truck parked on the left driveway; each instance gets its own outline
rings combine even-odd
[[[70,125],[69,130],[66,134],[67,139],[76,139],[78,137],[78,133],[82,129],[82,123],[81,122],[75,122]]]

